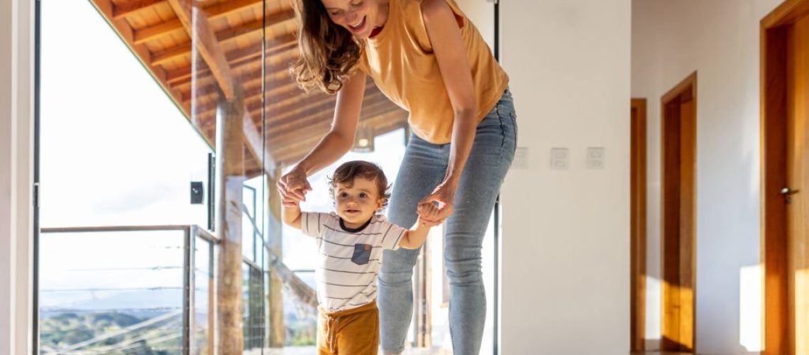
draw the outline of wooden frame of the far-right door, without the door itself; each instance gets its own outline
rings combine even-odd
[[[786,31],[809,14],[809,0],[787,0],[760,23],[760,199],[762,354],[789,354],[788,264],[786,256],[787,87]]]

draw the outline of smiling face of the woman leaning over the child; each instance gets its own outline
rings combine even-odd
[[[384,24],[379,0],[320,0],[332,22],[345,27],[354,37],[366,39],[374,27]],[[385,16],[387,18],[387,16]],[[379,23],[380,20],[383,23]]]

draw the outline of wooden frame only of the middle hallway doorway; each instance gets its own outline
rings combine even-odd
[[[692,292],[693,292],[693,322],[691,324],[691,332],[692,332],[692,350],[696,351],[697,349],[697,72],[693,72],[692,74],[688,75],[688,77],[684,78],[681,82],[679,82],[675,87],[671,88],[665,95],[663,95],[660,99],[660,180],[661,180],[661,188],[660,188],[660,239],[661,239],[661,247],[660,247],[660,272],[661,272],[661,331],[665,332],[667,327],[666,325],[666,308],[665,305],[667,304],[667,282],[665,281],[665,271],[666,271],[666,252],[667,248],[666,245],[666,191],[670,184],[669,179],[667,179],[666,175],[666,154],[667,154],[667,132],[666,127],[666,119],[667,119],[667,104],[669,104],[672,100],[677,99],[680,95],[690,94],[691,99],[693,100],[693,110],[694,110],[694,131],[693,131],[693,142],[691,142],[691,146],[693,146],[694,152],[694,166],[693,166],[693,186],[694,191],[691,197],[692,201],[692,210],[693,210],[693,225],[691,228],[691,235],[692,240],[691,242],[691,249],[688,251],[690,254],[687,255],[691,259],[691,270],[692,270]],[[678,137],[681,136],[681,133],[678,134]],[[678,146],[679,147],[679,146]],[[681,150],[681,148],[679,148]],[[677,178],[677,183],[680,184],[680,178]],[[683,259],[683,256],[679,256],[680,260]],[[677,350],[680,351],[681,349],[665,349],[667,342],[665,339],[661,342],[661,347],[663,350]]]

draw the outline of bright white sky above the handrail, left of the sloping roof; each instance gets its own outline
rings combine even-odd
[[[205,226],[189,192],[208,184],[211,147],[110,27],[109,9],[43,0],[41,11],[41,225]]]

